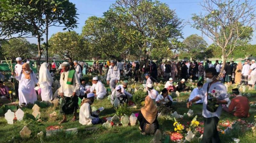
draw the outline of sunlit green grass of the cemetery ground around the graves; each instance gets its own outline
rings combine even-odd
[[[229,88],[229,92],[231,91],[231,87]],[[248,91],[251,95],[249,97],[249,101],[256,101],[256,91]],[[248,93],[246,92],[246,93]],[[177,104],[173,105],[176,107],[176,111],[178,114],[183,115],[184,113],[187,113],[189,109],[186,107],[186,99],[188,98],[188,95],[185,96],[179,96],[174,98],[174,100],[178,100]],[[97,109],[99,107],[104,107],[105,110],[100,112],[100,118],[102,117],[113,117],[115,113],[114,107],[110,104],[110,101],[105,98],[103,100],[95,100],[95,102],[92,104],[92,106],[96,107]],[[202,105],[197,104],[193,105],[190,109],[194,111],[194,116],[198,115],[197,120],[200,122],[203,122],[203,118],[201,116],[202,113]],[[62,115],[59,114],[58,107],[45,107],[40,108],[41,117],[40,119],[42,122],[37,122],[36,120],[30,118],[30,114],[32,114],[33,110],[29,109],[27,107],[23,107],[22,110],[25,112],[25,115],[23,117],[23,120],[18,122],[17,120],[14,122],[13,125],[7,124],[7,121],[5,120],[5,117],[2,115],[0,117],[0,143],[5,142],[12,142],[12,143],[77,143],[77,142],[83,142],[83,143],[149,143],[153,136],[150,135],[141,135],[139,131],[139,124],[137,123],[136,126],[128,126],[128,127],[122,127],[119,125],[119,127],[112,127],[112,128],[104,128],[102,125],[81,125],[79,123],[79,120],[75,122],[67,122],[63,123],[63,129],[68,128],[78,128],[77,135],[72,133],[65,133],[65,132],[58,132],[55,135],[46,136],[46,128],[49,126],[58,125],[58,122],[62,119]],[[49,114],[52,112],[56,112],[57,116],[54,118],[50,118]],[[139,108],[132,109],[133,113],[139,112]],[[241,118],[241,122],[248,121],[248,123],[254,123],[254,115],[256,115],[256,108],[250,107],[250,117],[248,118]],[[30,116],[29,116],[30,115]],[[130,116],[130,115],[128,115]],[[193,117],[194,117],[193,116]],[[184,117],[183,119],[178,119],[179,122],[182,124],[186,124],[187,122],[190,122],[193,117]],[[68,121],[72,119],[72,115],[67,116]],[[238,120],[237,117],[234,117],[231,114],[228,114],[226,112],[222,112],[221,118],[219,122],[229,121],[233,122],[235,120]],[[240,121],[239,120],[239,121]],[[166,140],[167,135],[166,131],[174,131],[173,127],[173,120],[159,117],[159,129],[162,132],[162,143],[169,143],[169,141]],[[248,124],[244,124],[244,126],[247,126]],[[31,135],[29,138],[21,138],[20,137],[20,131],[24,126],[27,126],[31,130]],[[92,128],[93,127],[93,128]],[[37,137],[37,133],[44,132],[44,137],[42,140]],[[185,131],[186,132],[186,131]],[[12,139],[13,138],[13,139]],[[253,131],[251,129],[248,130],[241,130],[240,128],[232,129],[229,133],[220,133],[220,138],[222,143],[233,143],[234,141],[231,138],[238,138],[240,140],[240,143],[255,143],[256,137],[253,135]],[[198,140],[191,141],[193,143],[199,142]]]

